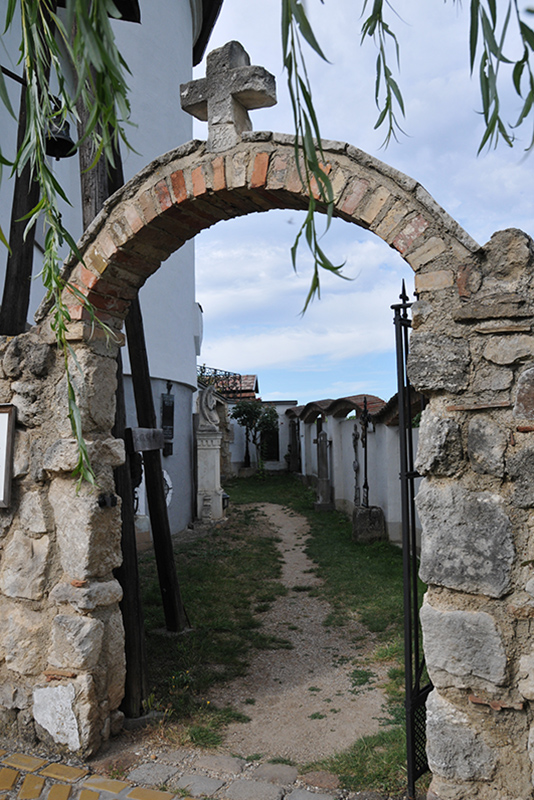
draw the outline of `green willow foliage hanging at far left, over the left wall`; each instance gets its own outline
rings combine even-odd
[[[119,17],[111,0],[66,0],[66,8],[57,12],[56,0],[9,0],[4,34],[20,24],[20,59],[26,92],[26,130],[13,162],[1,155],[2,164],[20,174],[29,164],[33,180],[39,184],[40,199],[28,214],[28,228],[37,221],[44,225],[44,257],[41,277],[46,299],[51,301],[52,328],[64,356],[67,379],[68,414],[73,436],[78,443],[78,464],[74,471],[79,482],[95,483],[81,418],[71,380],[69,355],[76,364],[74,351],[67,341],[71,321],[63,300],[67,287],[98,323],[92,305],[61,275],[60,252],[67,245],[78,257],[76,242],[63,224],[60,203],[69,200],[58,182],[46,156],[46,137],[51,126],[61,126],[76,119],[76,105],[88,112],[83,139],[89,140],[95,153],[94,163],[104,156],[113,164],[114,147],[119,140],[127,143],[125,123],[129,116],[127,66],[119,53],[110,17]],[[18,12],[18,13],[17,13]],[[66,79],[66,64],[72,74]],[[50,93],[51,83],[54,96]],[[0,72],[0,98],[15,117],[4,78]],[[16,117],[15,117],[16,118]],[[4,244],[8,244],[2,232]],[[101,323],[99,323],[101,324]],[[108,331],[111,335],[111,332]]]

